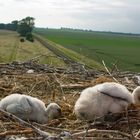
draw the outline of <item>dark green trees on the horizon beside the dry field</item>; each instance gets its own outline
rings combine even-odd
[[[22,20],[14,20],[11,23],[5,24],[0,23],[0,29],[6,29],[11,31],[17,31],[20,36],[25,37],[27,40],[33,42],[33,35],[32,31],[34,28],[34,18],[33,17],[26,17]]]

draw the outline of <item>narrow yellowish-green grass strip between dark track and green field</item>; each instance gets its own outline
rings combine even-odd
[[[45,47],[47,47],[49,50],[51,50],[53,53],[55,53],[57,56],[61,57],[61,59],[65,60],[65,62],[69,66],[72,66],[78,62],[77,64],[80,65],[80,67],[81,64],[84,64],[86,67],[92,69],[104,70],[103,65],[101,65],[93,59],[89,59],[88,57],[77,53],[76,51],[68,49],[38,34],[34,34],[34,38],[38,40],[41,44],[43,44]]]

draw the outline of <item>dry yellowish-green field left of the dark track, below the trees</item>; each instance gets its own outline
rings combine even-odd
[[[16,32],[0,30],[0,62],[21,61],[39,59],[40,63],[55,66],[65,66],[64,62],[56,57],[38,41],[20,42]]]

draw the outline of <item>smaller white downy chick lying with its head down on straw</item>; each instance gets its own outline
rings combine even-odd
[[[47,123],[61,115],[60,106],[50,103],[47,108],[41,100],[28,95],[18,93],[6,96],[0,101],[0,109],[3,109],[23,120]]]

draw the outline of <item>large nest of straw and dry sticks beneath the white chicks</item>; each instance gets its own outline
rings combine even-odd
[[[122,112],[119,114],[121,117],[112,122],[98,123],[76,119],[73,108],[79,97],[79,92],[98,83],[114,81],[107,73],[94,73],[93,71],[90,74],[67,73],[65,71],[59,73],[56,71],[46,72],[41,69],[28,74],[25,67],[22,69],[21,65],[19,66],[16,69],[9,69],[9,65],[2,65],[0,99],[15,92],[31,95],[44,101],[46,105],[50,102],[58,103],[62,108],[62,116],[59,119],[49,121],[45,125],[34,122],[27,122],[29,125],[24,125],[14,117],[0,112],[0,139],[12,140],[13,138],[15,140],[16,137],[24,137],[26,140],[43,140],[44,136],[41,132],[49,134],[49,137],[46,138],[48,140],[140,139],[140,111],[137,106],[131,106],[128,112]],[[133,90],[137,85],[131,77],[130,74],[120,74],[120,77],[117,75],[115,78],[130,90]],[[116,116],[116,114],[113,115]]]

